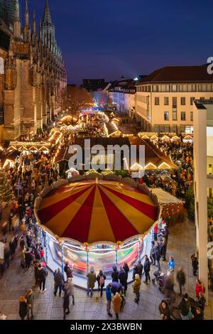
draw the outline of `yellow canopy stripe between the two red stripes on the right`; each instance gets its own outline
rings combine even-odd
[[[138,234],[143,234],[148,230],[149,227],[153,224],[153,220],[148,216],[144,215],[142,212],[138,211],[136,208],[133,208],[132,205],[126,203],[124,200],[121,200],[119,196],[114,195],[109,190],[104,187],[101,187],[105,195],[111,200],[112,203],[119,209],[119,211],[126,217],[131,225],[138,230]],[[143,205],[141,203],[141,205]]]

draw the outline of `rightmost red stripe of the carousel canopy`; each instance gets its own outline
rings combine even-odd
[[[102,187],[106,188],[109,190],[111,193],[114,195],[118,196],[122,200],[124,200],[126,203],[130,204],[133,208],[137,209],[138,211],[142,212],[144,215],[148,216],[152,220],[155,220],[156,218],[156,212],[157,208],[155,206],[152,206],[150,204],[141,202],[141,200],[136,200],[136,198],[131,198],[128,195],[124,195],[124,193],[119,193],[116,190],[112,190],[111,188],[105,187],[102,184]]]

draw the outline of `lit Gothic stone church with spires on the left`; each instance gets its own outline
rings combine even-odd
[[[21,26],[16,0],[12,30],[5,16],[0,18],[0,41],[0,122],[3,139],[11,140],[35,134],[47,125],[60,110],[66,92],[65,63],[55,40],[48,0],[39,33],[35,12],[31,27],[28,0]]]

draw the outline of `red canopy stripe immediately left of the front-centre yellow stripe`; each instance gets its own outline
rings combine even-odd
[[[63,232],[62,237],[70,237],[72,235],[72,239],[79,240],[82,243],[87,242],[95,190],[96,188],[94,187],[80,210],[72,218],[67,229]]]

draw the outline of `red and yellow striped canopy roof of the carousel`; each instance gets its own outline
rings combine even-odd
[[[63,185],[40,203],[40,222],[55,235],[79,242],[118,242],[146,232],[156,219],[151,198],[114,181]]]

